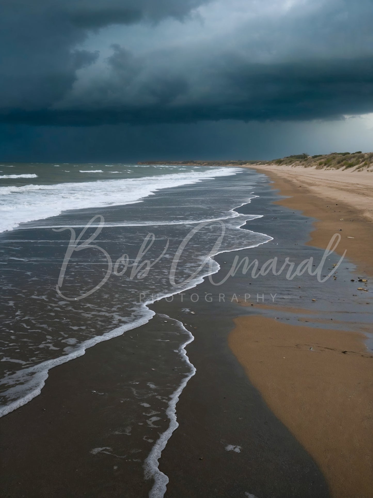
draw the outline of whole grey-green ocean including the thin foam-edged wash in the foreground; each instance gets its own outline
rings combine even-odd
[[[37,396],[51,368],[153,320],[151,337],[124,352],[127,376],[137,372],[125,402],[137,407],[138,439],[151,441],[141,464],[155,480],[152,496],[163,496],[158,458],[195,373],[185,350],[193,331],[148,305],[216,273],[215,254],[272,240],[249,229],[260,213],[242,213],[262,176],[227,167],[0,165],[0,414]],[[149,429],[164,417],[168,428],[151,439]]]

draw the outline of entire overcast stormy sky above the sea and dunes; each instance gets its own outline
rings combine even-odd
[[[0,6],[0,160],[373,150],[372,0]]]

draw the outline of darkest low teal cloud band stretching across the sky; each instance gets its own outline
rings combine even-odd
[[[90,93],[87,90],[85,100],[89,105],[85,103],[76,109],[75,102],[72,109],[13,111],[2,119],[29,124],[149,124],[333,119],[341,114],[373,112],[373,57],[322,64],[314,61],[275,66],[237,65],[229,75],[215,74],[215,78],[221,78],[221,85],[229,89],[224,98],[221,89],[214,88],[214,82],[206,77],[206,95],[201,95],[197,102],[188,101],[191,86],[181,77],[158,75],[136,84],[141,67],[130,54],[125,55],[125,60],[123,68],[117,61],[118,80],[113,77],[104,87],[94,86]],[[124,82],[132,103],[122,102]],[[119,83],[120,94],[116,93]],[[175,105],[180,97],[184,102]]]

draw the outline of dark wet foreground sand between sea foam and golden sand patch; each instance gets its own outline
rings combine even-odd
[[[195,314],[181,312],[183,306],[164,300],[153,306],[183,320],[195,336],[187,352],[197,374],[182,392],[179,427],[159,462],[169,477],[165,497],[329,497],[318,465],[271,412],[228,347],[237,306],[199,302],[192,305]],[[158,337],[156,325],[162,324],[155,317],[136,335],[101,343],[52,369],[39,396],[1,419],[1,496],[148,497],[152,482],[144,481],[137,459],[169,421],[157,421],[151,439],[138,439],[130,453],[141,418],[126,398],[130,382],[142,387],[141,377],[161,359],[141,354],[132,371],[127,362],[144,340]],[[108,449],[92,454],[94,448]]]

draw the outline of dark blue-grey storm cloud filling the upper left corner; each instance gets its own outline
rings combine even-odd
[[[77,50],[91,29],[181,19],[205,0],[1,0],[0,113],[39,116],[71,89],[98,53]]]

